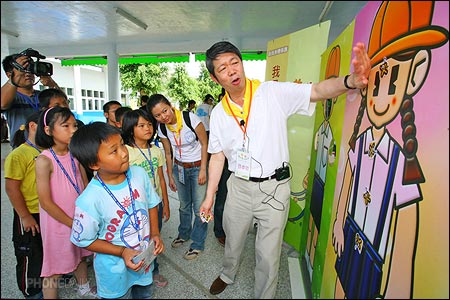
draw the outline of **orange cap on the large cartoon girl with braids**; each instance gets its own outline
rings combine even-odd
[[[432,1],[383,1],[373,22],[367,51],[372,66],[393,54],[445,44],[448,30],[431,25],[433,9]]]

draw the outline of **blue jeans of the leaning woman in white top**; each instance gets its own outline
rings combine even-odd
[[[191,239],[191,248],[203,251],[208,233],[208,224],[203,223],[200,219],[200,205],[205,199],[206,184],[198,184],[200,167],[183,168],[184,184],[182,184],[178,180],[179,167],[179,165],[174,164],[172,172],[177,185],[178,200],[180,201],[178,237],[183,240]],[[194,213],[194,224],[192,224],[192,213]]]

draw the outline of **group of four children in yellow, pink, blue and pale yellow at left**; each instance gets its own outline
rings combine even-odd
[[[83,298],[151,298],[152,283],[167,280],[157,259],[143,268],[133,257],[151,240],[154,255],[164,251],[160,230],[170,218],[156,121],[137,109],[121,129],[79,126],[65,94],[46,93],[65,101],[29,116],[5,160],[19,288],[26,298],[57,298],[61,274],[73,272]],[[93,253],[97,286],[88,281]]]

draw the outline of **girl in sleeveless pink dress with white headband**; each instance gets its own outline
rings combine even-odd
[[[36,144],[45,150],[36,159],[36,184],[45,299],[58,298],[58,278],[70,272],[74,272],[79,296],[96,297],[95,288],[88,282],[85,261],[92,252],[70,242],[75,200],[88,183],[84,168],[69,152],[77,128],[75,116],[67,107],[49,108],[39,118]]]

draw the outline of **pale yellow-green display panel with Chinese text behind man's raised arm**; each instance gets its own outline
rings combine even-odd
[[[266,80],[316,82],[320,76],[320,54],[326,49],[330,21],[279,37],[267,43]],[[314,43],[309,41],[314,40]],[[310,165],[315,114],[288,119],[291,202],[284,241],[297,251],[303,227],[306,186]]]

